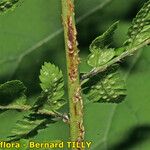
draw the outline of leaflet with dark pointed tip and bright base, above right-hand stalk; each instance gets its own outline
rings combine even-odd
[[[88,65],[97,68],[106,64],[115,56],[113,48],[108,48],[113,40],[118,22],[115,22],[103,35],[97,37],[90,45],[91,54],[88,57]]]

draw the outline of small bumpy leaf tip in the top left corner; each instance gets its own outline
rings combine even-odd
[[[8,10],[13,10],[19,0],[1,0],[0,1],[0,14],[3,12],[7,12]]]

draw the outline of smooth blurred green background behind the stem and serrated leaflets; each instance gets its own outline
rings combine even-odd
[[[146,0],[75,0],[81,71],[91,41],[120,20],[114,46],[127,38],[127,30]],[[0,83],[19,79],[28,87],[29,101],[40,92],[39,70],[44,61],[55,63],[66,74],[60,0],[22,0],[0,16]],[[85,138],[91,150],[150,149],[150,48],[143,48],[122,63],[127,97],[121,104],[85,106]],[[64,108],[67,110],[67,108]],[[17,111],[0,113],[0,140],[10,135]],[[69,140],[69,127],[58,122],[41,130],[36,141]]]

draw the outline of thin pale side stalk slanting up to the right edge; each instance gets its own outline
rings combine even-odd
[[[109,61],[106,65],[100,66],[98,68],[95,68],[93,70],[91,70],[90,72],[84,74],[81,77],[81,83],[83,82],[83,80],[91,78],[103,71],[105,71],[108,67],[112,66],[113,64],[120,62],[122,59],[124,59],[127,56],[131,56],[133,53],[135,53],[138,49],[146,46],[150,44],[150,39],[147,39],[146,41],[144,41],[142,44],[138,45],[137,47],[131,48],[131,49],[127,49],[125,52],[123,52],[120,56],[115,57],[114,59],[112,59],[111,61]]]

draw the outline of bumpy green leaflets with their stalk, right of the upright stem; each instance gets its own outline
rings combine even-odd
[[[138,50],[139,45],[150,43],[150,1],[139,11],[129,29],[129,39],[120,48],[110,47],[118,22],[114,23],[104,34],[97,37],[90,45],[88,65],[89,73],[83,75],[87,98],[94,102],[120,102],[126,95],[125,84],[118,71],[110,69],[125,57]],[[88,92],[87,92],[88,91]]]

